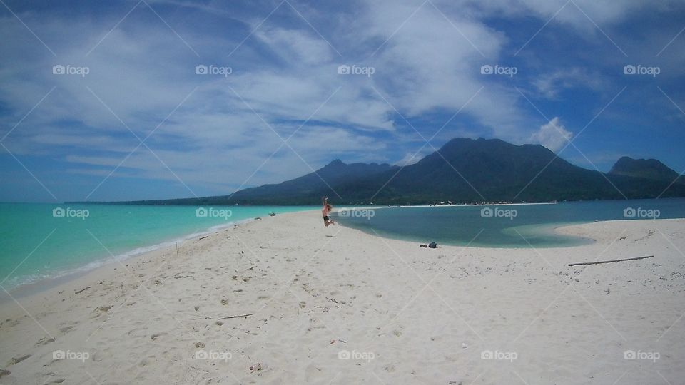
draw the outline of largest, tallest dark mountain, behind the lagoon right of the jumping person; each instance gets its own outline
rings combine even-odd
[[[539,202],[656,197],[671,182],[607,175],[572,165],[542,145],[482,138],[452,139],[392,178],[395,173],[335,190],[353,201],[369,202],[373,197],[374,203]],[[671,186],[662,196],[685,196],[685,188]]]

